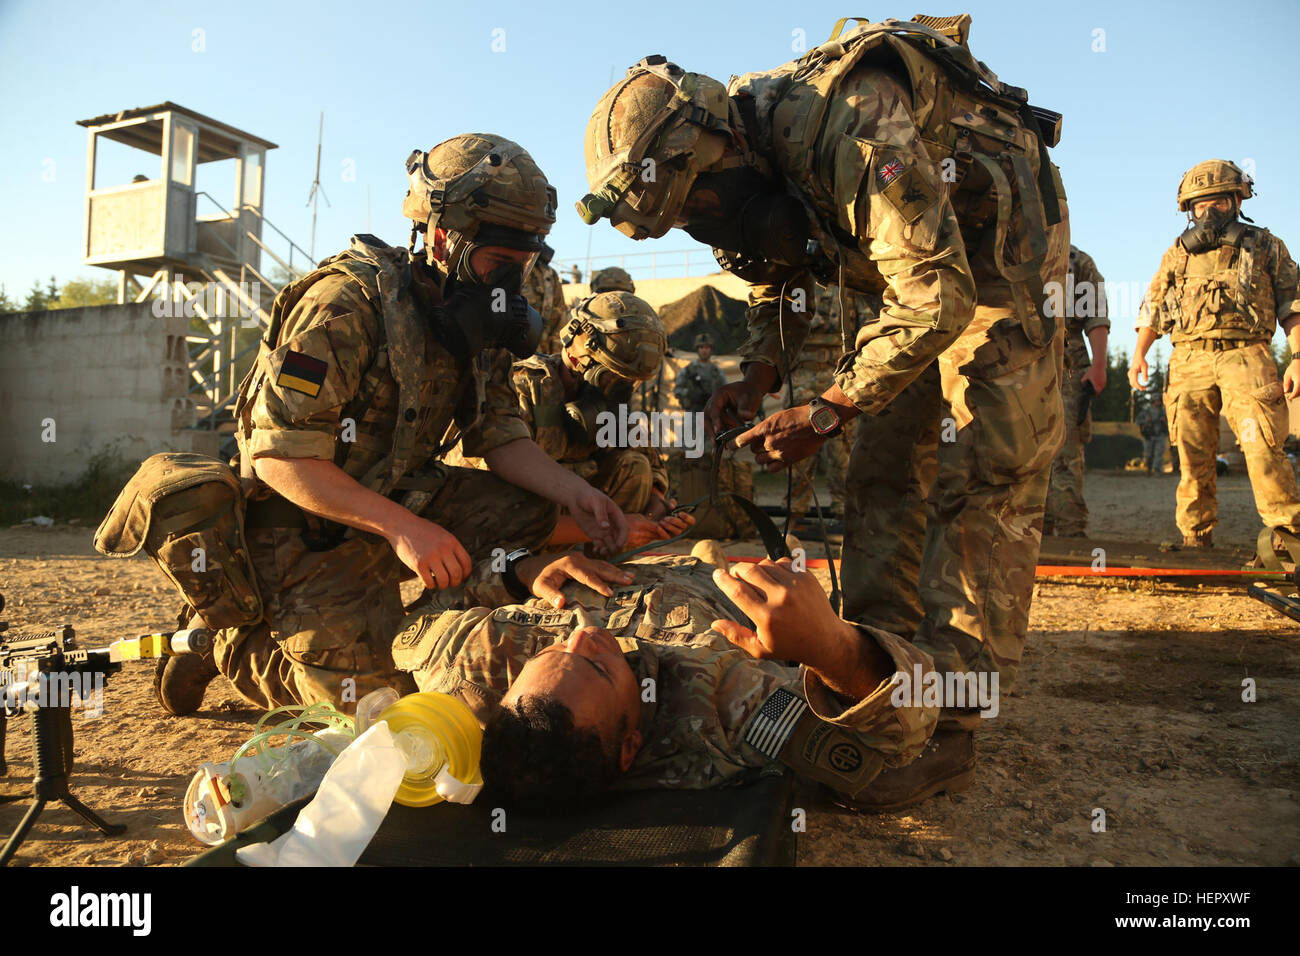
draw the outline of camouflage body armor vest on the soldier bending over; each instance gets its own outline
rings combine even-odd
[[[728,92],[753,131],[751,146],[771,156],[793,191],[810,203],[822,256],[812,268],[822,281],[836,281],[841,265],[859,276],[874,269],[855,237],[840,235],[833,225],[835,170],[818,161],[828,138],[837,135],[826,124],[829,103],[841,81],[859,66],[879,66],[904,81],[926,151],[940,165],[945,183],[952,183],[949,199],[976,282],[1009,282],[1022,321],[1035,313],[1041,319],[1046,228],[1061,221],[1063,196],[1046,156],[1046,147],[1060,137],[1060,116],[1030,107],[1024,90],[1000,82],[975,60],[965,46],[968,17],[931,22],[944,31],[889,20],[840,36],[840,21],[820,47],[776,70],[733,78]],[[858,140],[842,138],[846,142],[836,147],[835,165],[841,165],[841,155],[845,165],[861,163],[861,153],[852,150]],[[904,191],[907,177],[896,185]],[[1031,339],[1050,338],[1045,328],[1037,334],[1026,332]]]

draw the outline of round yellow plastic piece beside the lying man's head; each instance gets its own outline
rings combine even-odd
[[[407,757],[407,773],[394,797],[403,806],[429,806],[447,800],[473,803],[482,790],[478,770],[484,732],[459,698],[445,693],[412,693],[378,715]]]

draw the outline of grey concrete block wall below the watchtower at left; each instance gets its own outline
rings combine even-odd
[[[187,398],[185,317],[152,302],[0,315],[0,475],[31,484],[75,479],[107,449],[214,450]],[[43,441],[53,420],[55,441]],[[211,447],[209,447],[211,446]]]

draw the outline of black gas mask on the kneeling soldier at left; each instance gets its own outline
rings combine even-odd
[[[482,281],[447,280],[438,330],[443,345],[462,360],[484,349],[508,349],[526,359],[542,339],[542,316],[520,289],[524,265],[506,263]]]

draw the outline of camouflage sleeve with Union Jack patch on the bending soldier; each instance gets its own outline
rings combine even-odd
[[[833,170],[837,225],[857,237],[887,284],[880,313],[858,330],[853,360],[835,375],[840,392],[874,414],[962,333],[974,316],[975,284],[907,91],[889,73],[858,70],[827,127],[844,130],[819,157]]]

